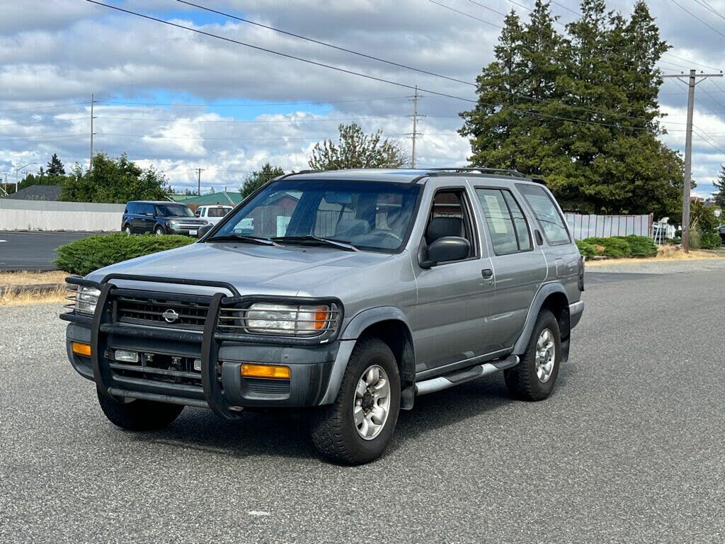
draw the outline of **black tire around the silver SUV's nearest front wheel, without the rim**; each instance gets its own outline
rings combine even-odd
[[[357,431],[353,418],[355,389],[370,366],[379,366],[388,376],[390,404],[383,428],[370,440]],[[312,416],[312,441],[330,461],[347,465],[369,463],[381,456],[395,431],[400,410],[400,376],[390,348],[377,338],[357,341],[350,355],[335,402]]]

